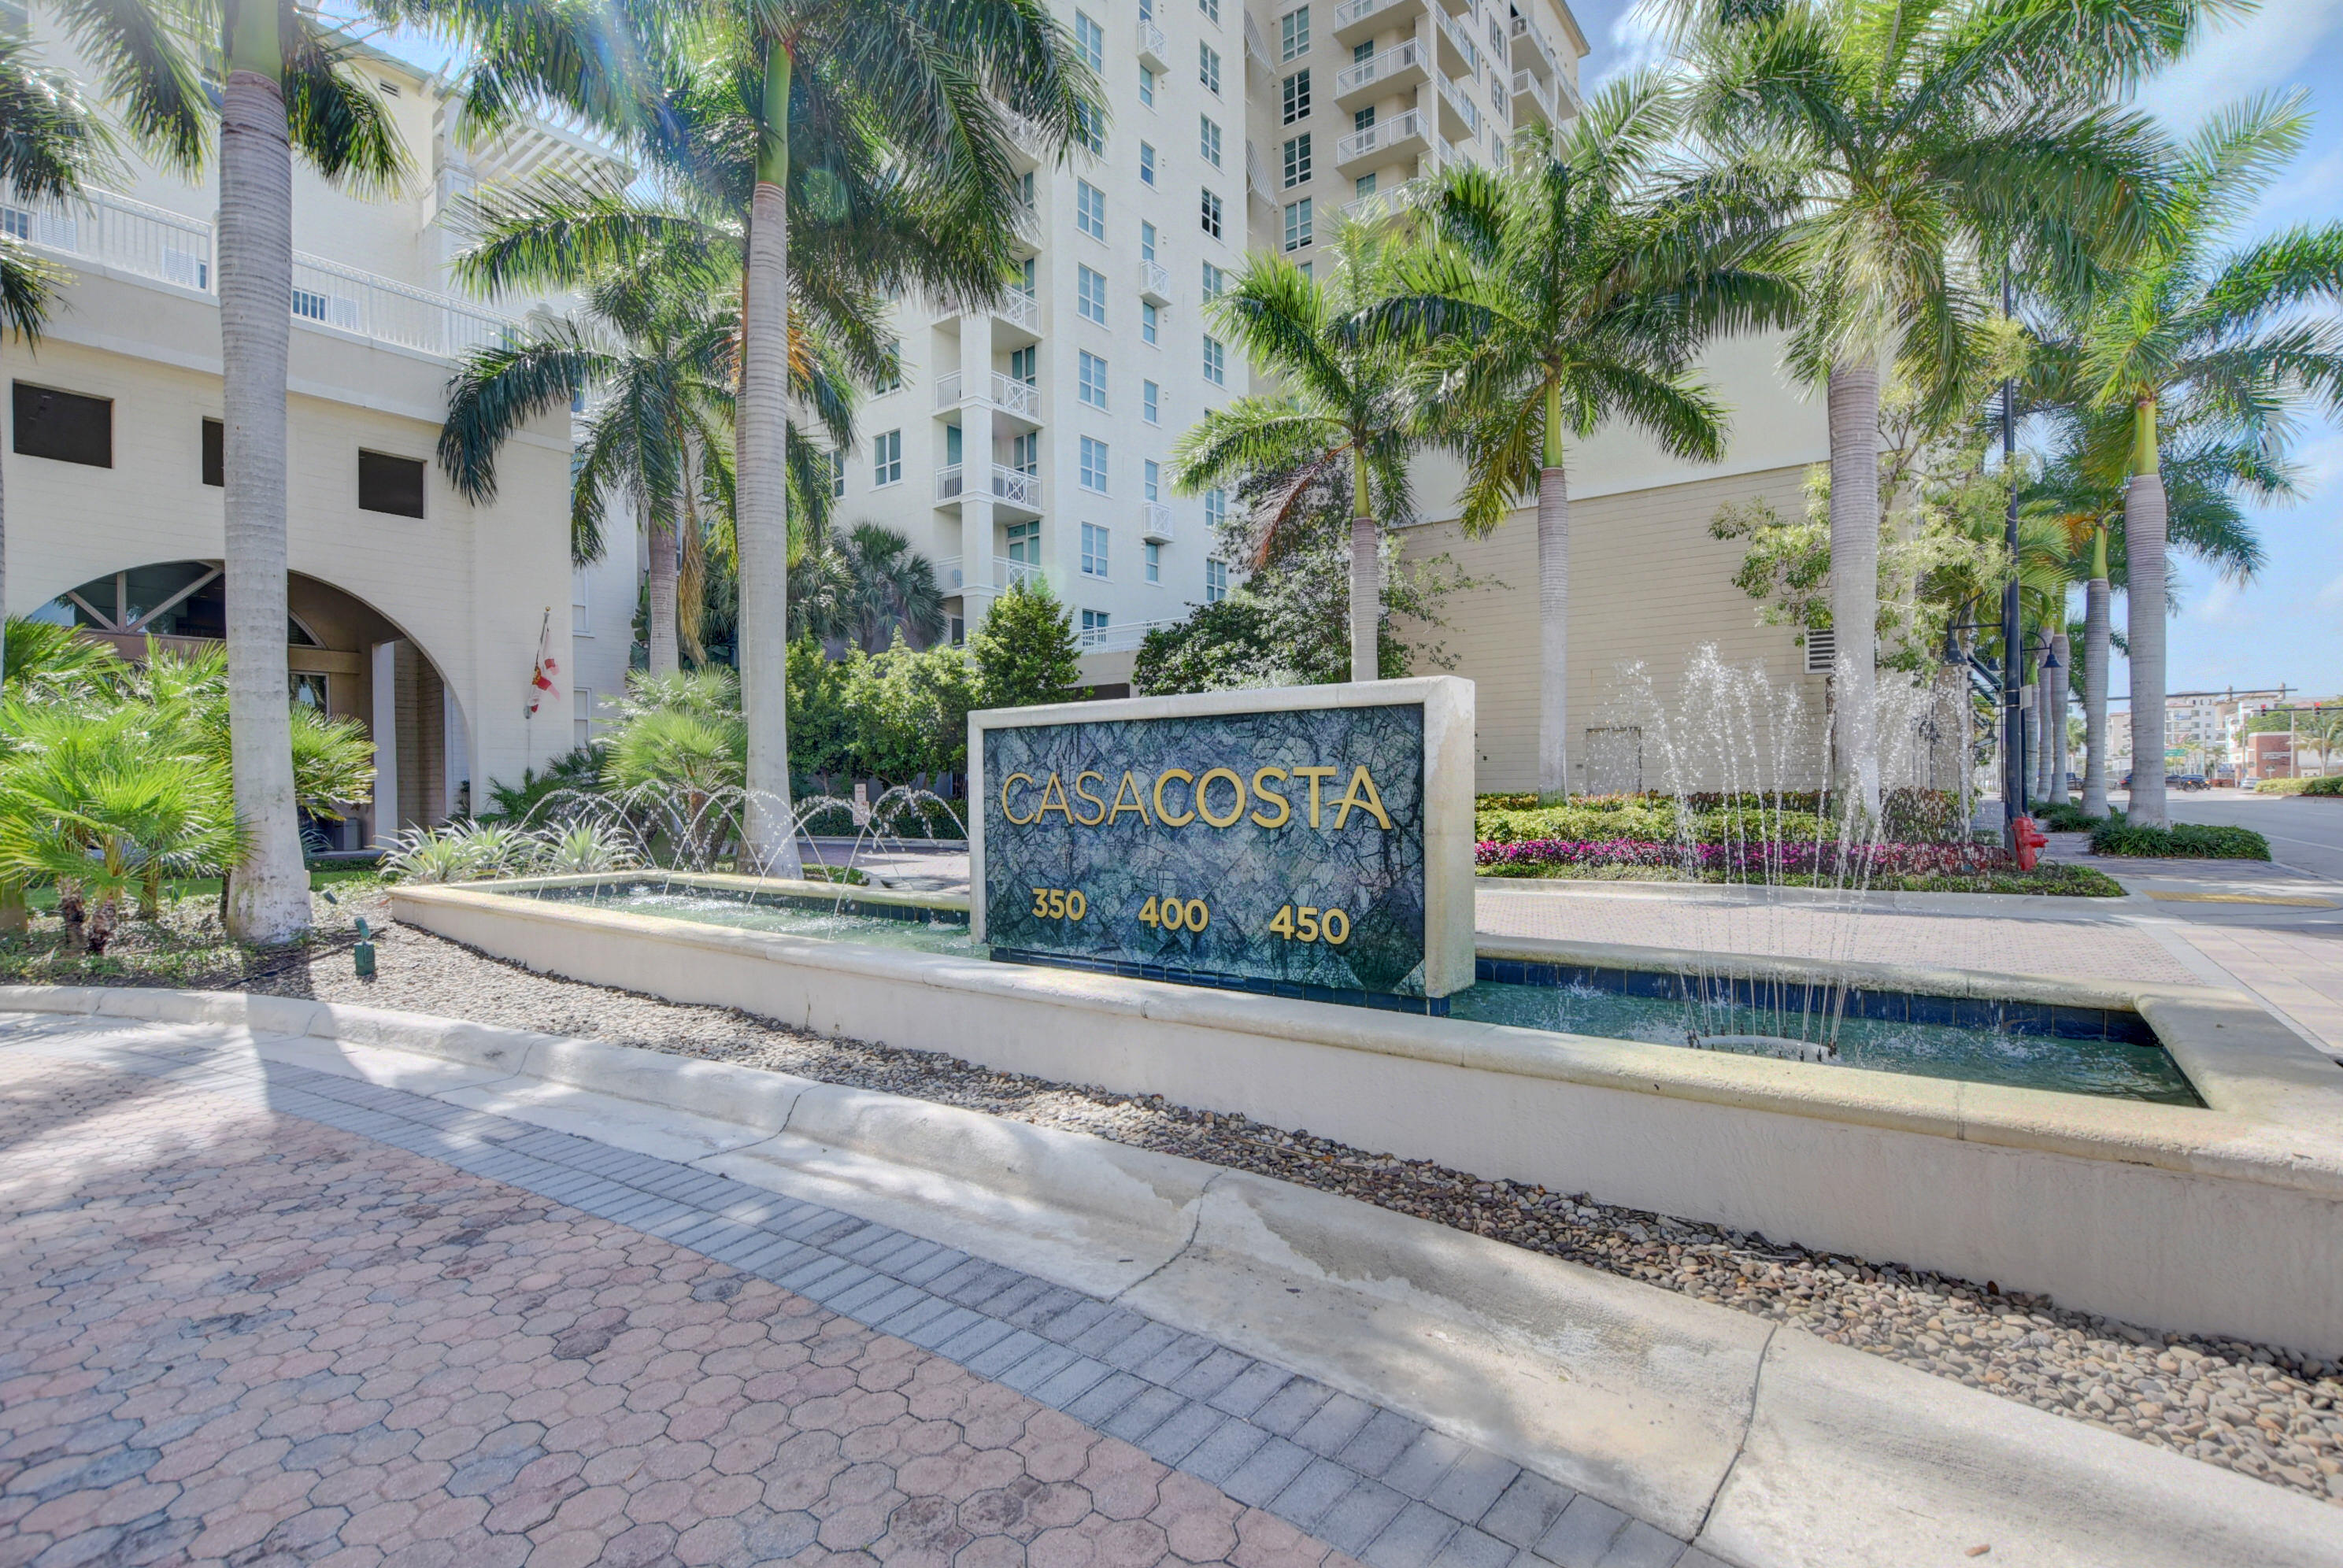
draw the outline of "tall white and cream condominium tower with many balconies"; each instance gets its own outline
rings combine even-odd
[[[1312,265],[1345,216],[1492,164],[1577,113],[1560,0],[1054,0],[1111,117],[1022,152],[1024,277],[1003,305],[897,307],[902,375],[836,457],[839,518],[937,563],[954,638],[1019,579],[1125,654],[1228,591],[1221,495],[1174,497],[1172,443],[1246,391],[1204,305],[1249,251]],[[1101,661],[1099,675],[1118,680]]]

